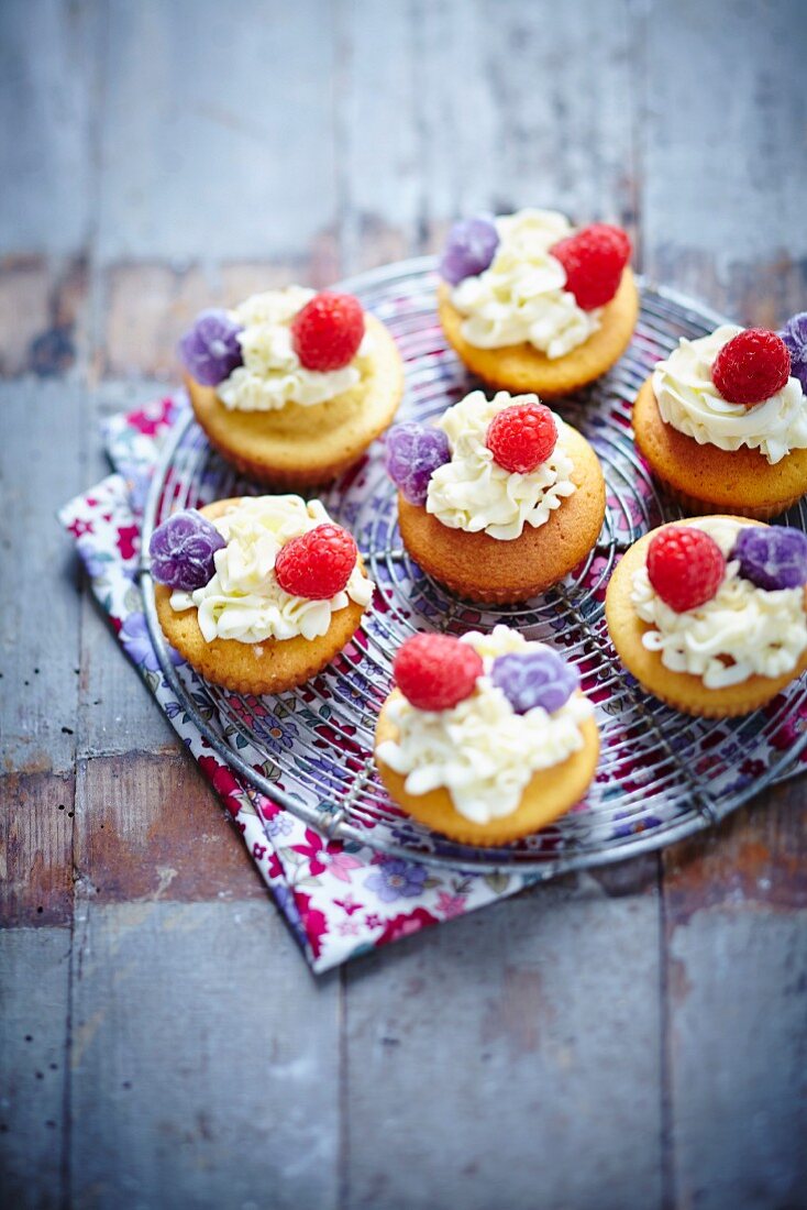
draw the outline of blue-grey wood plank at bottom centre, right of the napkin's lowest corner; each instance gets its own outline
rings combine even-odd
[[[661,1204],[658,904],[590,886],[346,969],[347,1206]]]

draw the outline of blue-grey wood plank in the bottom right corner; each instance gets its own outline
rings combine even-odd
[[[705,914],[675,930],[675,1187],[701,1210],[797,1206],[807,1189],[807,912]]]

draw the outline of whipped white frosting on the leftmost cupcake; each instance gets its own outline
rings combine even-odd
[[[309,503],[300,496],[242,500],[213,520],[227,543],[213,555],[215,575],[192,593],[173,592],[171,607],[181,612],[195,606],[206,643],[213,639],[261,643],[294,639],[299,634],[319,638],[328,630],[332,613],[345,609],[348,600],[369,605],[373,582],[357,561],[345,590],[330,600],[290,597],[277,582],[275,560],[293,537],[329,520],[318,500]]]

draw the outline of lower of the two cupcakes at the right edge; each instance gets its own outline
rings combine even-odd
[[[807,536],[742,517],[691,518],[640,538],[605,616],[640,685],[686,714],[765,705],[807,669]]]

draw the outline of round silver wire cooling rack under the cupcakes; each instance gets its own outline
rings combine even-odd
[[[446,346],[436,318],[431,258],[344,284],[398,342],[407,369],[400,416],[437,416],[477,385]],[[146,618],[165,676],[213,748],[256,790],[334,839],[465,870],[506,869],[544,878],[680,840],[728,814],[792,766],[807,743],[803,678],[744,719],[691,719],[645,695],[607,636],[604,598],[615,560],[647,530],[681,515],[657,492],[636,456],[632,401],[679,336],[701,336],[722,322],[696,302],[646,283],[641,298],[636,333],[618,365],[554,405],[596,450],[607,511],[595,549],[543,597],[524,605],[479,607],[426,576],[403,549],[381,442],[358,468],[319,492],[332,517],[354,534],[377,587],[354,640],[301,688],[243,697],[209,685],[186,666],[175,668],[144,570]],[[211,449],[188,409],[155,474],[144,549],[154,526],[172,512],[260,491]],[[801,506],[786,520],[807,529]],[[445,840],[391,802],[374,768],[373,734],[390,691],[392,657],[408,635],[490,630],[498,622],[553,644],[577,664],[582,687],[596,704],[601,756],[587,799],[554,825],[506,848],[477,848]]]

